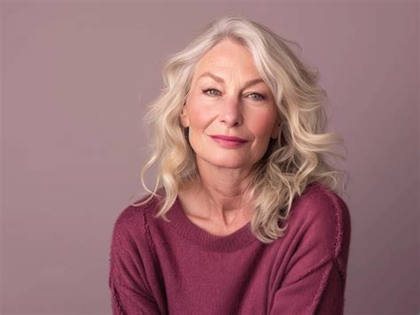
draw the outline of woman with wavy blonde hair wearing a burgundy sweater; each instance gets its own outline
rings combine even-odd
[[[350,215],[325,159],[340,138],[286,42],[232,14],[168,59],[147,115],[156,186],[113,228],[114,314],[343,312]]]

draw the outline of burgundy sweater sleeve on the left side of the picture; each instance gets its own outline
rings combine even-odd
[[[128,208],[121,213],[113,227],[110,254],[109,288],[113,315],[160,314],[146,277],[141,215]],[[144,245],[145,244],[145,245]]]

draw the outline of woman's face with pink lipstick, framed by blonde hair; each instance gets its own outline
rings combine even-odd
[[[226,168],[248,168],[278,135],[276,104],[241,44],[222,40],[198,61],[181,114],[197,159]],[[237,137],[241,141],[223,140]]]

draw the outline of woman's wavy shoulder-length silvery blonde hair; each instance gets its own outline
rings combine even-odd
[[[327,157],[345,159],[331,148],[343,140],[326,132],[326,92],[318,84],[318,70],[305,65],[289,47],[299,45],[238,14],[215,19],[187,47],[167,58],[163,68],[165,87],[145,115],[145,122],[153,131],[152,155],[142,168],[141,180],[150,196],[140,204],[157,196],[162,202],[155,218],[169,221],[166,213],[175,203],[179,189],[199,180],[195,154],[180,114],[195,65],[225,38],[243,44],[251,52],[257,71],[275,97],[282,121],[279,136],[270,140],[264,157],[253,165],[246,187],[253,200],[253,234],[269,243],[284,235],[288,225],[280,227],[279,222],[289,218],[292,201],[309,184],[320,182],[338,192],[346,172],[333,167]],[[144,173],[155,163],[158,174],[152,191],[144,184]],[[164,189],[164,194],[159,195],[158,189]]]

